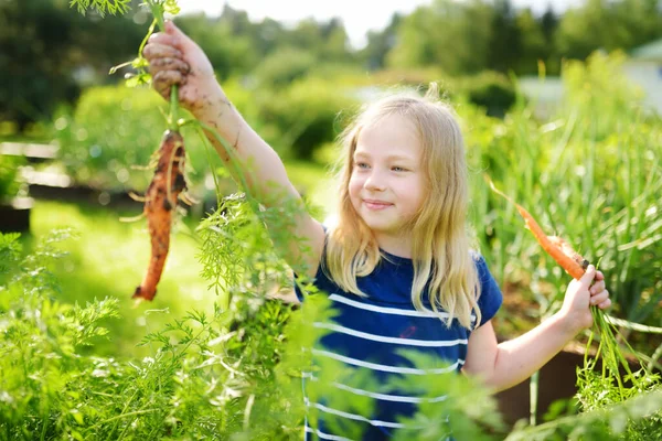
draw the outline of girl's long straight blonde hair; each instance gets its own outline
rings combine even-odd
[[[364,297],[356,278],[370,275],[380,260],[377,241],[350,200],[349,183],[353,155],[361,130],[380,119],[398,115],[416,128],[423,147],[421,166],[428,189],[412,230],[414,282],[412,301],[419,311],[427,309],[423,292],[428,287],[433,311],[449,314],[472,329],[471,313],[480,323],[480,283],[467,232],[468,170],[460,128],[453,110],[438,99],[436,84],[425,97],[396,94],[366,107],[341,135],[344,154],[339,170],[340,200],[338,224],[330,230],[322,269],[348,292]]]

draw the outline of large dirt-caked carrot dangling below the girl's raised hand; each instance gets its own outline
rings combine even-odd
[[[147,216],[151,238],[151,257],[142,283],[136,288],[134,299],[152,300],[161,279],[168,250],[173,211],[182,192],[184,179],[184,141],[181,135],[168,130],[158,151],[159,162],[145,197],[143,214]]]

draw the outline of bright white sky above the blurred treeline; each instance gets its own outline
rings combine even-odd
[[[530,7],[535,12],[544,12],[553,4],[557,12],[577,6],[583,0],[511,0],[516,8]],[[420,4],[431,0],[180,0],[181,13],[204,11],[207,15],[218,15],[225,3],[234,9],[244,10],[252,21],[261,21],[265,17],[287,24],[293,24],[306,18],[318,21],[340,17],[344,22],[352,46],[365,45],[369,30],[384,29],[394,12],[409,13]]]

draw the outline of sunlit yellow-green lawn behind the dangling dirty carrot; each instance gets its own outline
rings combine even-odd
[[[32,235],[24,241],[30,249],[35,239],[55,228],[70,227],[77,233],[76,240],[63,244],[68,254],[53,268],[62,288],[56,300],[85,304],[93,299],[117,298],[120,319],[104,323],[113,340],[99,341],[95,353],[139,357],[149,353],[149,348],[136,346],[145,334],[185,311],[209,311],[217,299],[200,277],[197,243],[190,226],[179,223],[154,301],[136,306],[131,294],[148,265],[149,237],[145,220],[120,223],[120,215],[135,213],[116,214],[90,205],[38,201],[32,213]]]

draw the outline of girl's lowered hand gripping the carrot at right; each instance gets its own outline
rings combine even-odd
[[[595,283],[591,286],[591,282]],[[589,306],[594,305],[607,309],[611,305],[611,299],[605,288],[605,275],[589,265],[580,280],[573,280],[568,284],[559,314],[570,330],[578,333],[592,325]]]

